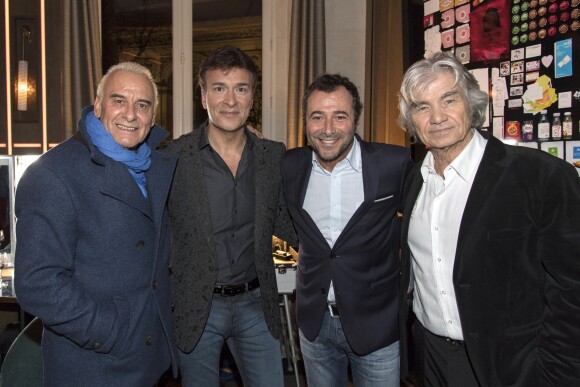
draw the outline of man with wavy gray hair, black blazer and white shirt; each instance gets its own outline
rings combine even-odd
[[[580,179],[480,134],[487,104],[448,53],[415,63],[401,86],[401,126],[430,149],[408,179],[402,232],[423,382],[577,386]]]

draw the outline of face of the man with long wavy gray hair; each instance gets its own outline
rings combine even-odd
[[[473,137],[467,102],[455,86],[453,75],[440,72],[416,99],[411,119],[417,136],[435,156],[445,152],[453,160]]]

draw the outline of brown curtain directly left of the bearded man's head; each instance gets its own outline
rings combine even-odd
[[[326,71],[324,0],[293,0],[288,77],[288,149],[306,144],[302,96]]]

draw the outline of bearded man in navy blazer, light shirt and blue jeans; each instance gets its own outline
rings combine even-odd
[[[358,90],[325,74],[307,89],[312,148],[286,152],[284,195],[299,239],[297,322],[309,386],[399,386],[397,210],[407,149],[355,136]]]

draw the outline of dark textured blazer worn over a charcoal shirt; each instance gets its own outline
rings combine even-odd
[[[191,352],[209,316],[217,278],[210,207],[202,175],[199,144],[207,123],[167,146],[179,157],[171,193],[171,271],[173,325],[177,346]],[[260,140],[253,134],[256,168],[254,249],[264,315],[272,336],[281,333],[278,288],[272,259],[272,235],[295,245],[296,236],[280,187],[280,158],[284,144]]]

